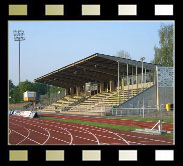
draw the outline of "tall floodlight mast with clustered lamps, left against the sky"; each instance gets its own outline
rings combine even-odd
[[[14,40],[19,42],[19,85],[20,85],[20,42],[25,40],[23,30],[14,30],[13,31]]]

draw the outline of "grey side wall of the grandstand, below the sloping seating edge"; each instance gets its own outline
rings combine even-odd
[[[143,106],[143,97],[145,107],[156,107],[156,86],[152,86],[151,88],[145,90],[143,93],[140,93],[137,96],[129,99],[119,107],[141,108]],[[173,104],[173,88],[159,88],[159,105],[168,103]]]

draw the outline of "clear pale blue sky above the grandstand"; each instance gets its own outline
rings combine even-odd
[[[129,52],[133,60],[154,58],[161,24],[173,21],[10,21],[9,79],[19,79],[19,47],[13,30],[24,30],[21,81],[34,79],[94,53]]]

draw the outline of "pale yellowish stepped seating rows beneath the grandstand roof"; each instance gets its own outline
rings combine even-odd
[[[120,103],[127,101],[128,99],[136,96],[140,92],[142,92],[141,88],[133,89],[133,90],[129,90],[129,91],[127,89],[120,90],[120,92],[119,92]],[[109,107],[111,107],[112,105],[117,106],[118,100],[119,100],[117,90],[112,91],[112,92],[103,91],[102,93],[95,94],[85,100],[81,100],[82,102],[80,101],[79,103],[77,103],[77,101],[79,101],[81,98],[83,98],[83,96],[68,95],[68,96],[65,96],[64,98],[58,100],[57,102],[54,102],[52,104],[52,106],[56,105],[56,106],[68,107],[69,105],[76,103],[77,105],[75,105],[73,108],[68,108],[68,111],[71,111],[71,110],[77,111],[79,109],[84,110],[84,108],[80,108],[82,106],[83,107],[90,106],[93,108],[96,108],[97,106],[109,106]],[[53,109],[53,108],[51,108],[51,109]],[[91,110],[91,109],[92,108],[87,108],[87,110]]]

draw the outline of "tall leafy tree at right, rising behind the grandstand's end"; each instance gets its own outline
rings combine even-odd
[[[158,32],[160,47],[154,47],[155,54],[152,63],[173,66],[173,24],[162,24]]]

